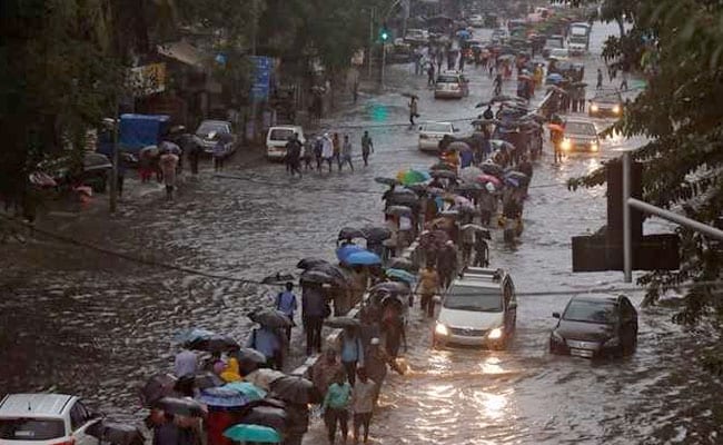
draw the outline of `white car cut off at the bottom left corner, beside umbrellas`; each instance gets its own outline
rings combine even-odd
[[[101,421],[75,396],[9,394],[0,402],[0,445],[99,445],[88,429]]]

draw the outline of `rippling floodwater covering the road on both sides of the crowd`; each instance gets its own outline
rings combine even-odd
[[[593,28],[585,70],[588,97],[602,43],[615,30],[601,23]],[[199,326],[245,339],[245,314],[267,305],[275,289],[244,279],[296,271],[306,256],[334,259],[339,228],[383,221],[383,187],[374,177],[434,162],[417,150],[417,134],[404,123],[407,99],[402,92],[419,95],[420,121],[473,118],[481,111],[475,105],[491,93],[491,80],[474,67],[465,73],[469,97],[435,101],[426,76],[394,66],[387,92],[361,95],[357,105],[325,119],[324,128],[350,135],[357,155],[360,136],[369,130],[375,154],[367,168],[357,159],[354,172],[339,174],[335,167],[331,174],[314,171],[297,179],[283,165],[257,161],[186,181],[174,204],[125,202],[115,219],[91,215],[55,227],[131,257],[236,280],[136,264],[48,239],[0,254],[0,394],[52,387],[97,402],[118,418],[141,418],[137,387],[170,367],[170,339],[177,330]],[[505,86],[508,92],[514,87]],[[596,123],[601,130],[606,125]],[[465,121],[455,125],[469,128]],[[622,285],[622,273],[572,274],[571,237],[604,225],[605,190],[572,192],[565,185],[616,156],[612,149],[620,145],[605,141],[600,155],[571,156],[559,166],[546,147],[535,166],[519,244],[505,248],[502,233],[493,233],[492,265],[507,269],[519,293],[511,348],[433,350],[432,326],[415,308],[406,355],[412,372],[387,380],[372,427],[375,443],[723,441],[723,387],[696,363],[711,343],[704,332],[672,324],[672,310],[642,308],[638,347],[631,358],[598,364],[551,356],[552,313],[562,310],[570,295],[525,295]],[[631,296],[636,304],[641,297]],[[305,443],[324,443],[319,437],[313,432]]]

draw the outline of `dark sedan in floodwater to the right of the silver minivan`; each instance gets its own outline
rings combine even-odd
[[[581,295],[553,313],[549,352],[594,358],[632,354],[637,346],[637,312],[627,297]]]

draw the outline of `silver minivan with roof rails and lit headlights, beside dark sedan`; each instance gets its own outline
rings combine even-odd
[[[503,349],[515,332],[517,297],[503,269],[468,267],[442,297],[433,345]]]

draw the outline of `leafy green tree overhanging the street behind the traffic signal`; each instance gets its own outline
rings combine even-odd
[[[628,62],[645,72],[647,87],[625,107],[612,131],[650,139],[633,155],[644,165],[644,200],[713,224],[723,209],[723,29],[717,26],[723,6],[705,0],[644,0],[635,2],[633,14],[628,36],[637,36],[642,44],[640,57]],[[615,46],[607,50],[613,56],[624,51]],[[604,175],[605,167],[571,180],[570,186],[600,185]],[[692,230],[679,233],[681,270],[643,276],[646,301],[655,303],[666,290],[693,283],[675,320],[695,324],[712,315],[723,327],[717,284],[723,251]],[[713,363],[719,372],[723,369],[720,360]]]

